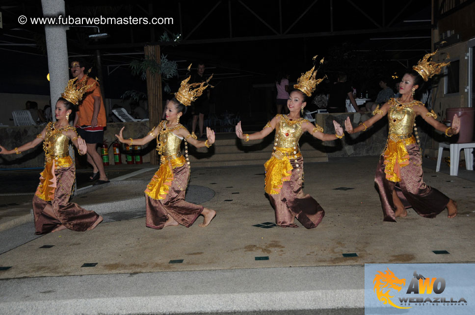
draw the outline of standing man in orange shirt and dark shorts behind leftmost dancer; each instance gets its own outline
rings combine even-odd
[[[74,126],[78,135],[87,145],[87,162],[92,165],[93,173],[89,177],[90,181],[97,179],[94,185],[106,184],[109,182],[104,170],[101,155],[97,152],[97,144],[103,142],[104,128],[106,127],[106,108],[101,97],[99,83],[88,77],[84,70],[85,63],[80,58],[71,61],[71,74],[77,77],[78,81],[85,80],[84,84],[94,84],[84,94],[82,102],[79,104],[79,111],[76,112]]]

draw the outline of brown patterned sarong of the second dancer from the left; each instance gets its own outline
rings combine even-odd
[[[188,186],[189,166],[185,163],[183,166],[177,168],[172,168],[171,164],[168,164],[167,167],[173,172],[173,180],[169,186],[167,185],[167,194],[160,196],[160,199],[151,198],[150,194],[145,195],[145,225],[153,229],[162,229],[164,223],[168,219],[167,215],[169,215],[178,223],[189,227],[203,211],[203,206],[185,201],[185,192],[186,187]],[[159,172],[160,170],[158,170],[154,175],[152,181],[156,183],[161,182],[156,178]],[[161,173],[165,172],[162,170]],[[154,191],[154,188],[150,187],[150,184],[147,187],[148,190]]]

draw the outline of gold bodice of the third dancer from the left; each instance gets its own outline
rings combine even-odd
[[[275,147],[297,148],[298,140],[303,134],[302,122],[307,121],[303,118],[291,121],[285,115],[280,117],[279,123],[275,126],[274,150]]]

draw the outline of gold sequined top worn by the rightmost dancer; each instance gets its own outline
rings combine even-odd
[[[389,138],[405,139],[412,136],[412,129],[416,113],[414,106],[423,106],[421,101],[413,100],[409,103],[400,103],[396,98],[389,100],[391,107],[388,111]]]

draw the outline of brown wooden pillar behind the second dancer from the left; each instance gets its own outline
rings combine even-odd
[[[154,57],[160,64],[160,46],[145,46],[145,57]],[[162,100],[161,100],[161,74],[153,74],[147,70],[147,98],[149,107],[149,126],[153,128],[161,121]],[[150,152],[150,164],[158,165],[157,150]]]

